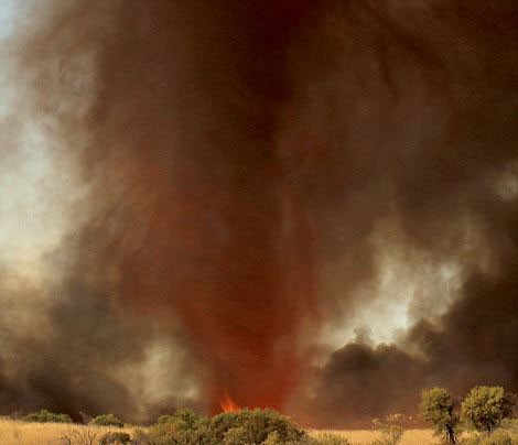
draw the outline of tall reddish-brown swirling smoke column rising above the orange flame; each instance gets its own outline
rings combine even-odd
[[[122,305],[164,329],[180,317],[213,411],[225,392],[280,408],[298,379],[312,240],[274,130],[303,14],[295,2],[123,2],[98,48],[85,175],[98,172],[94,199],[121,191],[98,261]]]

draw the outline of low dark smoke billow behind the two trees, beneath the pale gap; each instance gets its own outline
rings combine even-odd
[[[516,267],[515,258],[506,276],[473,275],[439,326],[421,319],[401,345],[356,341],[333,352],[312,401],[321,425],[365,426],[387,413],[412,415],[421,390],[434,386],[458,399],[476,384],[516,391]]]

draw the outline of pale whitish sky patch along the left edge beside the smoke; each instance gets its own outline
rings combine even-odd
[[[20,82],[4,54],[12,51],[8,45],[17,23],[23,23],[15,20],[23,19],[21,7],[20,0],[0,0],[0,126],[3,132],[12,130],[12,141],[7,139],[15,144],[0,148],[0,265],[34,275],[43,270],[42,253],[64,234],[68,197],[62,182],[71,178],[56,169],[44,126],[34,116],[20,118]]]

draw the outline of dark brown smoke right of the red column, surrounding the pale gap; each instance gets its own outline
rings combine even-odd
[[[399,344],[357,341],[333,352],[313,395],[299,402],[313,405],[304,417],[322,425],[414,413],[423,387],[462,397],[477,383],[518,386],[516,171],[505,191],[495,186],[518,155],[518,9],[384,4],[336,2],[321,39],[309,33],[295,57],[304,111],[299,126],[290,117],[288,140],[325,153],[311,164],[310,197],[322,217],[316,231],[330,237],[324,258],[352,258],[338,270],[343,295],[379,272],[371,234],[395,219],[402,240],[387,236],[385,249],[403,243],[453,260],[465,284],[439,319],[427,319],[420,307],[433,301],[417,295],[411,308],[421,319]]]

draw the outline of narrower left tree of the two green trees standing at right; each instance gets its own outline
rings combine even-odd
[[[421,415],[431,422],[436,434],[444,435],[449,444],[455,444],[455,430],[458,417],[454,414],[454,401],[447,390],[431,388],[423,390],[421,395]]]

